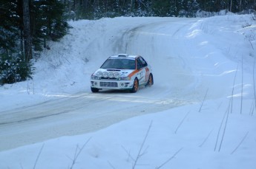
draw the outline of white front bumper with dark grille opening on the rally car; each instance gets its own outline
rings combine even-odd
[[[132,89],[133,80],[91,80],[91,87],[96,89]]]

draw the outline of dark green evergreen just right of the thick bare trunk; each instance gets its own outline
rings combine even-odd
[[[68,33],[68,15],[65,4],[57,0],[33,1],[31,27],[33,46],[36,51],[47,47],[47,41],[59,41]]]

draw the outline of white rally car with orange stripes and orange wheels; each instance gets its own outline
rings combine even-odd
[[[151,66],[140,55],[113,55],[91,75],[91,92],[99,92],[99,89],[128,89],[135,93],[139,86],[153,84]]]

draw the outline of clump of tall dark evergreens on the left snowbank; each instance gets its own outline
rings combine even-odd
[[[0,84],[31,78],[33,52],[68,32],[65,9],[63,0],[1,0]]]

